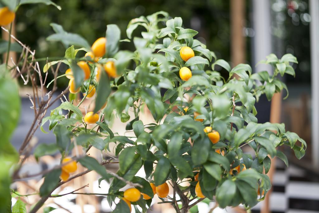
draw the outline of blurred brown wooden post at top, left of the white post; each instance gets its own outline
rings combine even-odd
[[[246,39],[242,33],[245,20],[245,0],[230,1],[231,20],[231,61],[233,66],[243,63],[246,58]]]

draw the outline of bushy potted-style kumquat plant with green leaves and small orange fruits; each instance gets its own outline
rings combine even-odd
[[[55,79],[46,86],[53,83],[55,91],[56,80],[68,78],[62,95],[69,91],[69,96],[47,117],[39,115],[49,105],[41,102],[36,114],[35,123],[40,118],[43,132],[49,121],[56,143],[38,145],[34,156],[38,159],[59,151],[62,159],[59,166],[41,173],[45,179],[36,192],[41,199],[31,212],[49,197],[59,196],[52,194],[57,187],[92,170],[100,174],[99,181],[110,182],[104,195],[110,206],[116,203],[114,212],[130,212],[132,206],[136,212],[140,212],[137,206],[146,212],[154,196],[170,203],[176,212],[188,212],[204,199],[216,201],[221,208],[243,204],[249,209],[271,188],[266,175],[271,158],[277,156],[288,166],[287,157],[277,147],[286,145],[297,158],[304,156],[305,141],[286,131],[284,124],[259,124],[254,106],[264,94],[271,100],[274,93],[285,89],[288,95],[278,77],[294,75],[291,63],[297,60],[293,55],[278,59],[271,54],[260,62],[271,65],[273,74],[252,73],[248,64],[231,68],[193,38],[198,32],[185,28],[182,18],[172,19],[164,11],[132,19],[127,38],[116,25],[107,25],[106,36],[92,46],[58,24],[51,26],[56,33],[47,40],[62,42],[67,48],[65,56],[34,73],[40,72],[41,78],[41,72],[44,76],[57,65]],[[142,37],[132,36],[137,27],[145,28]],[[120,50],[120,42],[133,42],[136,50]],[[68,68],[57,76],[61,63]],[[221,76],[217,67],[228,71],[228,78]],[[83,116],[79,107],[87,98],[94,109]],[[154,122],[139,119],[142,107],[147,107]],[[126,122],[126,132],[134,135],[113,132],[114,117]],[[33,124],[30,130],[36,127]],[[20,155],[26,154],[32,131],[23,141]],[[83,147],[83,155],[71,156],[75,145]],[[243,146],[254,156],[244,153]],[[86,155],[91,147],[102,153],[114,147],[118,158],[98,162]],[[106,169],[110,162],[119,164],[116,173]],[[19,176],[21,164],[23,160],[14,166],[10,181],[28,177]],[[72,174],[77,164],[87,170]],[[140,169],[145,177],[136,176]],[[130,188],[123,191],[126,185]]]

